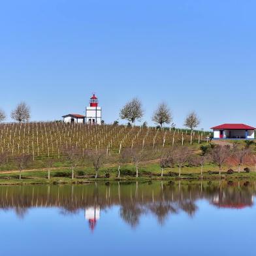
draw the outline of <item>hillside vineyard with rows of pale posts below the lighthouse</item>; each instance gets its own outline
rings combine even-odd
[[[84,125],[62,122],[4,123],[0,125],[0,153],[7,161],[28,154],[33,161],[51,157],[61,159],[67,147],[104,149],[106,154],[122,148],[159,148],[200,144],[209,133],[181,129],[156,129],[128,125]]]

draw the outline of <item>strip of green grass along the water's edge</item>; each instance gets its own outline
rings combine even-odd
[[[104,167],[99,171],[97,180],[99,181],[147,181],[147,180],[234,180],[234,179],[253,179],[256,180],[256,172],[234,172],[234,174],[227,174],[227,168],[221,172],[221,176],[217,173],[217,168],[214,165],[206,165],[202,177],[200,176],[200,167],[184,167],[182,168],[182,176],[178,177],[178,167],[165,169],[164,176],[161,178],[161,170],[157,163],[150,165],[140,165],[139,177],[135,177],[135,167],[133,165],[125,165],[121,168],[121,177],[118,178],[117,167]],[[216,172],[210,174],[208,171]],[[176,176],[170,176],[170,172]],[[110,174],[109,178],[105,174]],[[78,167],[75,170],[75,178],[71,179],[70,168],[63,167],[57,170],[51,170],[50,180],[48,180],[48,171],[43,169],[24,171],[22,172],[22,180],[19,180],[19,172],[1,173],[0,172],[0,185],[3,184],[80,184],[94,182],[95,172],[92,167],[84,168]]]

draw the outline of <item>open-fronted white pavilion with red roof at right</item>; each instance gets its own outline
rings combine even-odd
[[[245,125],[244,123],[224,123],[212,127],[214,130],[214,139],[244,139],[253,140],[255,135],[255,127]]]

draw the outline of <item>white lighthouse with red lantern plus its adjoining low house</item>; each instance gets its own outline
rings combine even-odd
[[[86,107],[86,116],[80,114],[67,114],[62,117],[64,123],[86,123],[89,125],[101,125],[101,107],[98,98],[93,94]]]

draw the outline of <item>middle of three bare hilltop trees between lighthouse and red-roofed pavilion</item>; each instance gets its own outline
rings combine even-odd
[[[163,127],[163,124],[172,121],[172,112],[166,103],[161,103],[157,106],[157,110],[153,113],[152,121]]]

